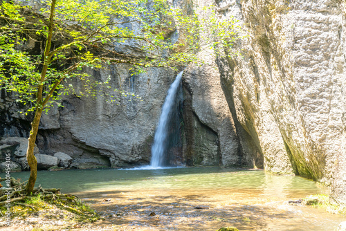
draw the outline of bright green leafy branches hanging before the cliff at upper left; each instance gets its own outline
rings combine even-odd
[[[185,66],[198,62],[202,40],[217,55],[232,55],[239,39],[236,21],[220,21],[213,6],[197,11],[208,17],[185,15],[165,0],[44,0],[39,10],[3,0],[0,88],[16,93],[28,111],[47,110],[66,93],[96,97],[103,88],[110,88],[110,77],[100,82],[88,77],[85,68],[125,63],[133,66],[134,73],[142,73],[153,66]],[[176,28],[183,39],[172,43],[170,35]],[[44,54],[26,51],[30,41],[45,44]],[[121,50],[125,44],[140,46],[140,54],[113,49]],[[83,89],[75,89],[71,81],[75,79],[83,83]],[[111,102],[115,95],[119,94],[112,95]]]

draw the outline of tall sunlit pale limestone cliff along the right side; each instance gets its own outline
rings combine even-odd
[[[229,6],[221,20],[234,15],[248,31],[237,44],[243,56],[217,65],[233,117],[261,149],[264,168],[331,184],[331,198],[346,204],[345,1],[217,6]]]

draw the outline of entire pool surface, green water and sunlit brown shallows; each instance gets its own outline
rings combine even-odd
[[[28,175],[12,174],[22,180]],[[235,226],[239,230],[322,231],[334,230],[345,220],[322,208],[289,205],[289,200],[327,192],[313,181],[260,170],[203,167],[40,171],[39,184],[78,194],[98,211],[110,215],[95,225],[120,225],[124,230],[217,230]],[[195,209],[201,206],[208,209]],[[150,212],[156,215],[148,216]]]

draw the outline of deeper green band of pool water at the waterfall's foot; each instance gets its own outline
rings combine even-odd
[[[29,172],[13,173],[15,178],[28,179]],[[0,177],[4,177],[1,176]],[[59,172],[39,171],[36,186],[61,187],[62,192],[92,190],[160,189],[212,189],[255,190],[260,196],[288,196],[316,194],[313,181],[297,176],[275,176],[257,170],[225,169],[219,167],[167,168],[154,170],[127,169],[71,169]]]

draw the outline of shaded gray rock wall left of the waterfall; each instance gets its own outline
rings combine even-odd
[[[149,163],[152,136],[174,73],[152,69],[131,76],[129,66],[118,65],[92,75],[99,75],[101,80],[111,75],[114,88],[140,95],[141,99],[127,93],[127,96],[120,96],[107,89],[95,99],[71,96],[64,101],[65,107],[59,109],[56,116],[52,110],[53,116],[43,118],[38,142],[40,149],[48,151],[48,154],[57,151],[69,154],[74,167],[78,167],[80,162],[111,167]],[[76,85],[82,87],[82,83]],[[107,101],[111,100],[109,95],[118,100]],[[59,125],[46,129],[54,124],[56,118]]]

